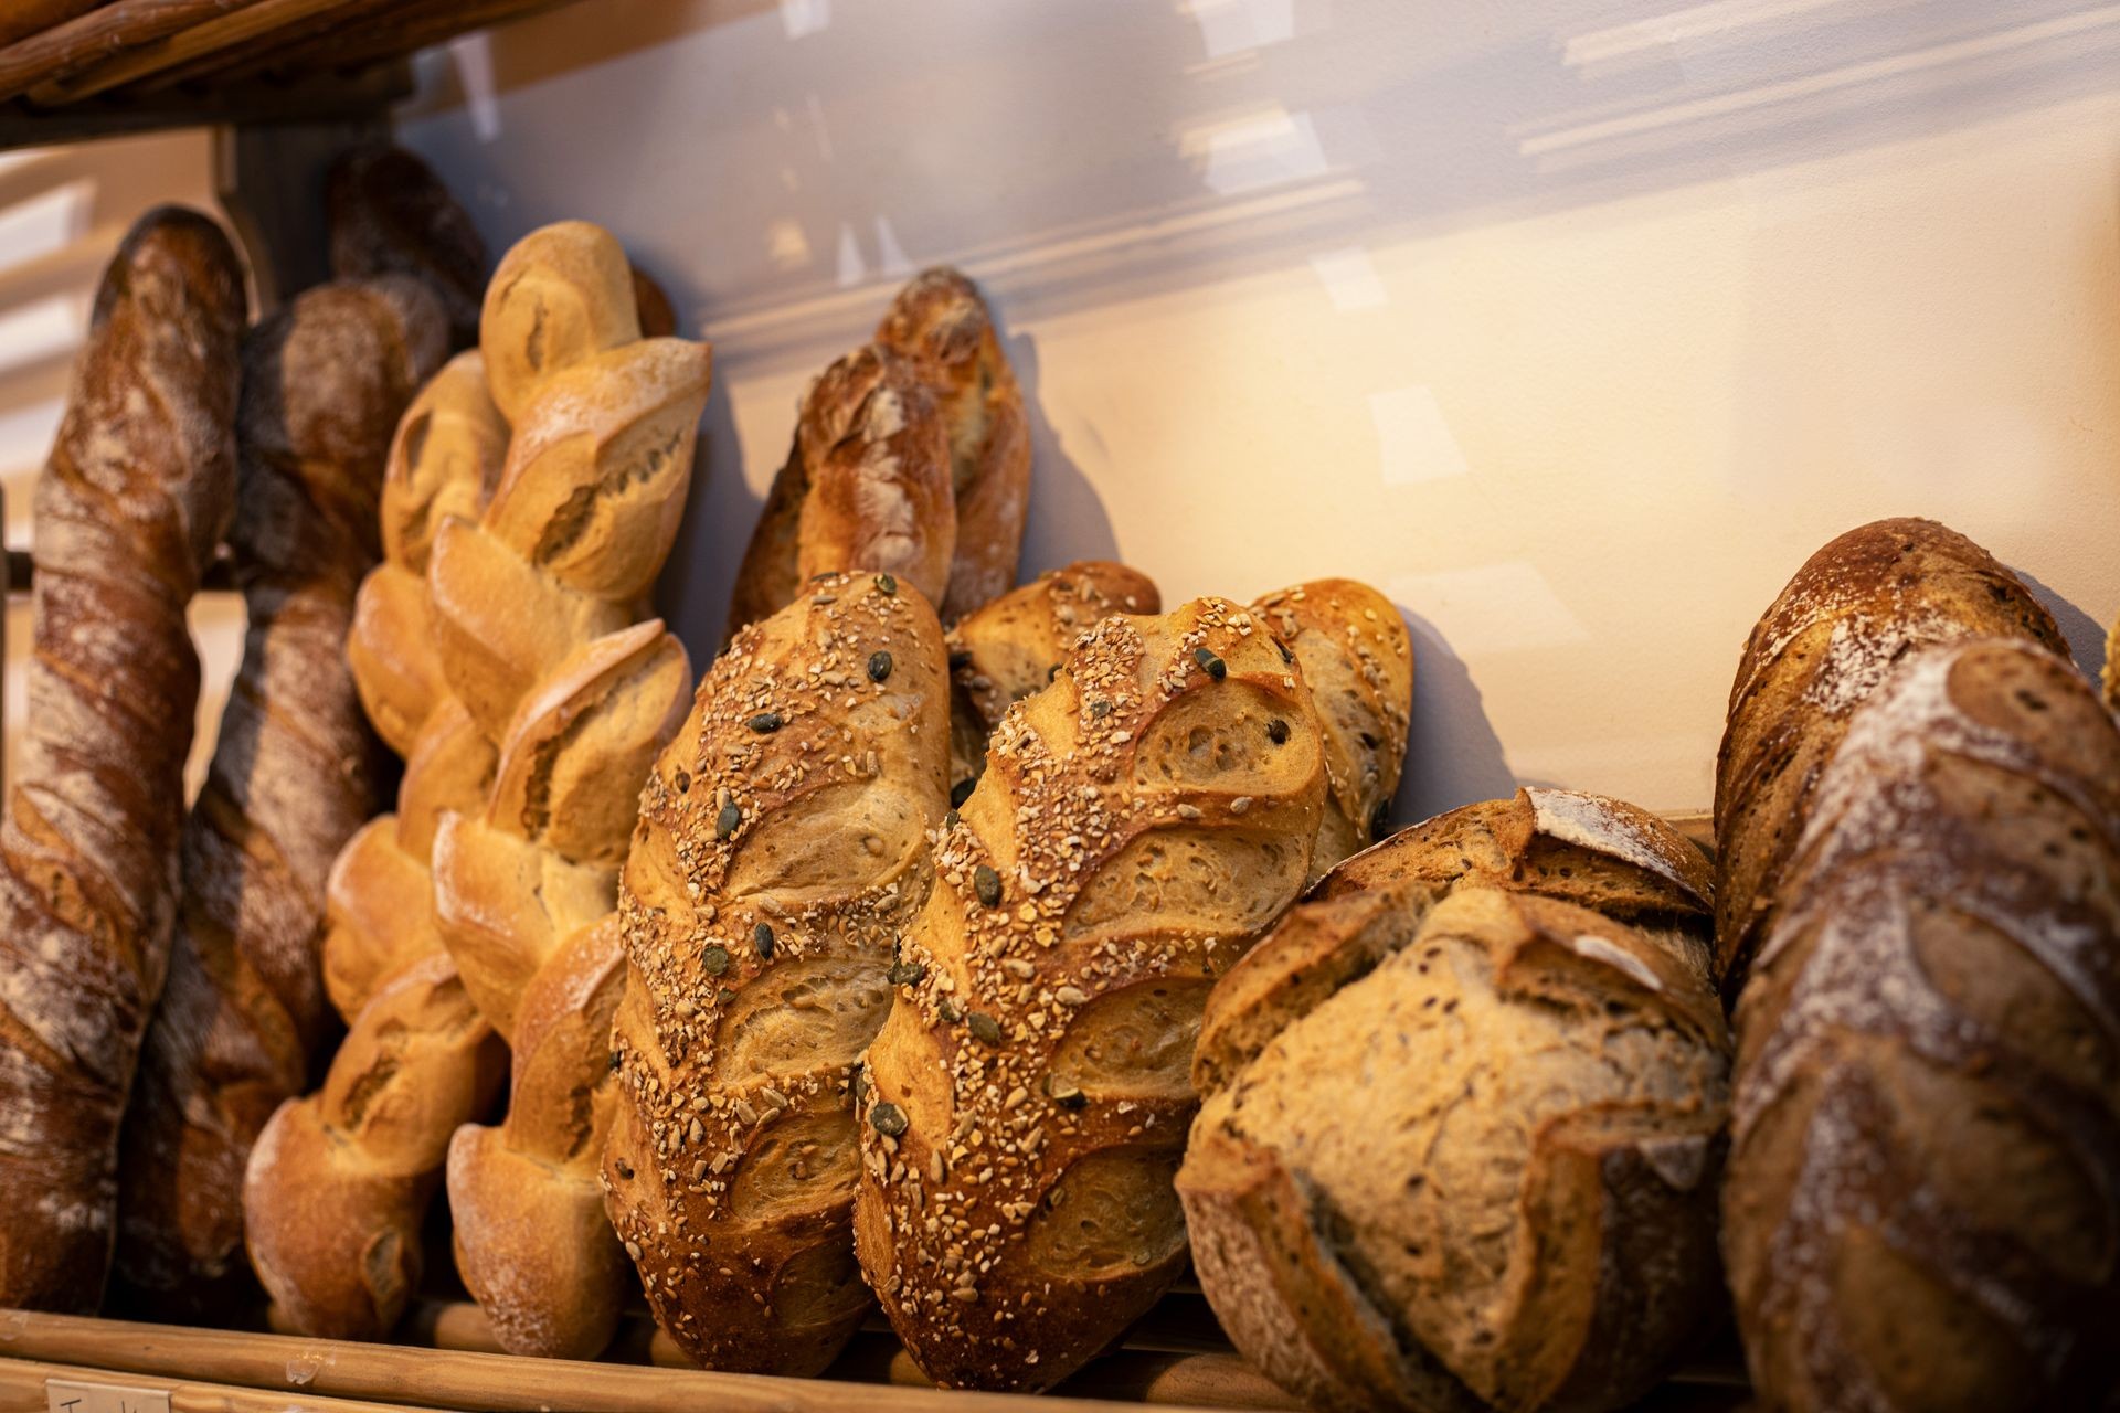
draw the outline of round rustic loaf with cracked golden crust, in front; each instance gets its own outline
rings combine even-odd
[[[1202,1288],[1321,1407],[1620,1407],[1713,1305],[1728,1053],[1681,938],[1461,888],[1202,1106]]]

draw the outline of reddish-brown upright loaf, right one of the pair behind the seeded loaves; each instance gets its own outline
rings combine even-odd
[[[994,337],[986,301],[954,269],[914,275],[884,311],[876,341],[920,366],[950,432],[956,549],[950,587],[937,608],[943,623],[956,623],[1015,583],[1024,515],[1030,511],[1024,394]]]

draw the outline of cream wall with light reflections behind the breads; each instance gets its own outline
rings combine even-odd
[[[918,265],[1037,405],[1028,568],[1355,574],[1406,818],[1709,801],[1794,568],[1936,515],[2120,610],[2120,6],[589,0],[422,66],[498,246],[613,227],[717,345],[695,652],[808,375]]]

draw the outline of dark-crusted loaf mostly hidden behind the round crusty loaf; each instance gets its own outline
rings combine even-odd
[[[1545,894],[1651,930],[1698,930],[1711,896],[1700,849],[1624,801],[1526,788],[1439,813],[1319,879],[1221,979],[1200,1023],[1200,1091],[1225,1087],[1287,1025],[1406,947],[1454,888]]]

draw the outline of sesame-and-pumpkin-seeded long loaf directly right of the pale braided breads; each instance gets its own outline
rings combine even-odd
[[[712,1369],[818,1373],[869,1309],[852,1068],[933,877],[946,693],[926,600],[833,574],[736,636],[642,790],[604,1188]]]

